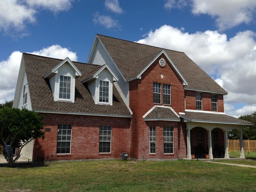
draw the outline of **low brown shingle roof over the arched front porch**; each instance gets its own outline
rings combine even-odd
[[[240,125],[253,125],[249,121],[234,118],[225,114],[215,114],[215,113],[202,113],[202,112],[185,112],[185,115],[179,115],[180,117],[189,121],[198,122],[216,122],[216,123],[231,123]]]

